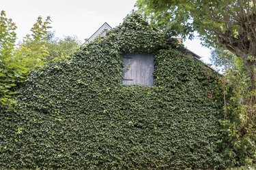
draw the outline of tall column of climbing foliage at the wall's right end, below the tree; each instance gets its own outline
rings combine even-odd
[[[227,70],[226,78],[223,79],[223,90],[229,95],[225,105],[226,120],[221,121],[224,135],[223,153],[233,167],[251,166],[256,163],[256,127],[255,122],[248,122],[254,113],[248,114],[250,105],[244,103],[248,98],[245,89],[249,86],[250,78],[239,63],[241,61],[236,62],[233,69]]]

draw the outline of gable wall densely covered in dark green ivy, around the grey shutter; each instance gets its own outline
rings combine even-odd
[[[154,52],[154,86],[122,86],[122,55]],[[0,112],[0,169],[221,167],[218,74],[139,14],[72,60],[31,73]]]

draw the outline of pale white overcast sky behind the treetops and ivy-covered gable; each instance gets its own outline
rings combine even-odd
[[[38,16],[51,17],[56,37],[76,35],[82,42],[91,37],[104,22],[116,27],[132,9],[136,0],[0,0],[0,11],[12,18],[18,29],[17,37],[22,40]],[[188,50],[210,63],[210,50],[200,45],[199,39],[184,41]]]

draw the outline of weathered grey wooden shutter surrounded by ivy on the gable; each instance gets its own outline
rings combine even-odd
[[[153,54],[125,54],[124,55],[123,85],[152,86],[154,83]]]

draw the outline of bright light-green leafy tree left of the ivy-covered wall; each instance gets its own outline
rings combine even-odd
[[[38,17],[31,29],[31,35],[27,35],[23,43],[15,48],[16,26],[11,19],[6,18],[5,12],[1,12],[1,42],[0,42],[0,101],[1,109],[13,109],[16,104],[14,95],[17,94],[18,84],[24,82],[29,71],[35,67],[44,65],[48,51],[44,46],[50,18],[45,22]]]

